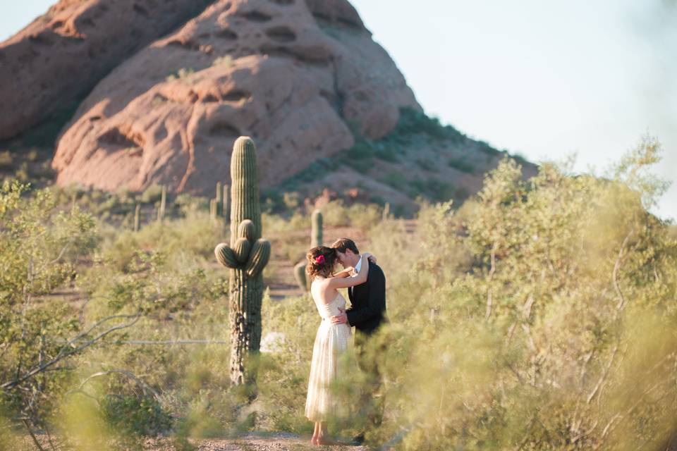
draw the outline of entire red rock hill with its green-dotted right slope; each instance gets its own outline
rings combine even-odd
[[[425,116],[346,0],[146,3],[63,0],[0,44],[0,170],[206,195],[249,135],[270,197],[407,213],[463,201],[503,156]]]

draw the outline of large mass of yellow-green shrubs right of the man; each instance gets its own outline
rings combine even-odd
[[[387,245],[384,268],[404,249],[413,264],[389,285],[387,347],[373,358],[391,421],[372,440],[665,448],[676,433],[677,242],[646,209],[661,187],[638,175],[656,152],[642,143],[607,180],[545,165],[523,182],[506,160],[463,218],[425,207],[426,230],[374,242]]]

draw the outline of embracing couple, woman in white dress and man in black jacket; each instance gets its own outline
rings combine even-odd
[[[365,383],[360,390],[360,409],[372,426],[379,426],[383,416],[382,374],[373,356],[367,355],[370,338],[385,321],[386,278],[376,259],[362,254],[353,240],[341,238],[331,247],[317,246],[307,254],[306,272],[311,280],[310,293],[319,316],[322,316],[315,345],[312,349],[310,382],[305,402],[305,416],[315,422],[313,445],[332,443],[327,435],[327,420],[347,406],[339,405],[336,392],[330,388],[337,378],[345,380],[341,354],[350,346],[351,327],[355,326],[355,354]],[[336,264],[343,271],[334,272]],[[350,309],[346,299],[338,292],[348,288]],[[361,443],[364,434],[355,441]]]

